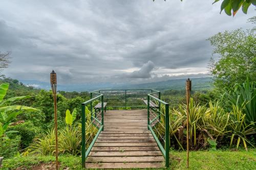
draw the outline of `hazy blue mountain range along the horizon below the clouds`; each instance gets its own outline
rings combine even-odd
[[[194,90],[212,88],[211,78],[191,78]],[[90,83],[90,84],[58,84],[61,91],[93,91],[99,89],[176,89],[182,90],[185,87],[186,79],[172,79],[160,82],[142,84],[114,84],[114,83]],[[40,81],[21,80],[27,86],[41,89],[51,89],[50,83]]]

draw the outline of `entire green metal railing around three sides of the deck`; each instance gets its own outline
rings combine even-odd
[[[100,132],[104,129],[104,102],[108,103],[106,108],[109,109],[147,108],[148,130],[151,131],[165,158],[165,166],[169,166],[169,105],[161,100],[160,91],[154,89],[97,90],[91,92],[90,97],[90,100],[82,103],[82,167],[85,167],[86,158]],[[143,100],[147,101],[147,105]],[[151,102],[154,106],[150,105]],[[94,106],[98,103],[101,103],[99,112],[94,109]],[[88,108],[90,108],[90,111]],[[86,139],[86,130],[92,127],[97,129],[97,133],[93,134],[93,139],[90,136]],[[161,131],[158,130],[159,128]]]

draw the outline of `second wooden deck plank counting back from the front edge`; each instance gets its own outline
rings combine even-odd
[[[136,157],[89,157],[86,162],[163,162],[162,156],[136,156]]]

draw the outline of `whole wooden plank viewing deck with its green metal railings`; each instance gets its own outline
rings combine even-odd
[[[169,166],[169,105],[154,89],[97,90],[82,103],[82,167]]]

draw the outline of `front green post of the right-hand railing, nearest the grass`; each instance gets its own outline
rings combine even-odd
[[[165,105],[165,166],[169,167],[169,104]]]

